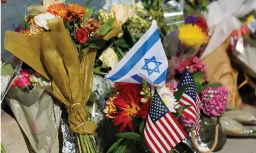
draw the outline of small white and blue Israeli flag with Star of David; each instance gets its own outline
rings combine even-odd
[[[105,77],[112,82],[136,84],[145,79],[149,84],[163,86],[166,82],[167,68],[168,61],[158,26],[153,20],[150,29]]]

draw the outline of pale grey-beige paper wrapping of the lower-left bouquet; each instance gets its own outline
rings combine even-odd
[[[62,111],[50,94],[45,88],[36,88],[31,93],[14,88],[7,101],[36,153],[51,152],[59,131]]]

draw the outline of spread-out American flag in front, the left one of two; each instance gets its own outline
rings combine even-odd
[[[186,132],[155,90],[144,129],[152,152],[168,152],[186,138]]]

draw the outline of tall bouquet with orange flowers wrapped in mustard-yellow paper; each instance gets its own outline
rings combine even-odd
[[[31,14],[19,32],[5,34],[5,49],[52,82],[53,96],[65,104],[70,130],[78,133],[80,152],[97,151],[92,135],[97,125],[88,121],[86,110],[95,55],[119,34],[114,19],[101,24],[88,4],[45,0],[28,7]]]

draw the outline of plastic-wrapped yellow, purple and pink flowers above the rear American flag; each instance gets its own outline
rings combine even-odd
[[[181,23],[172,25],[163,41],[170,67],[167,84],[175,87],[175,77],[178,78],[186,66],[189,66],[191,73],[203,76],[200,82],[205,82],[206,69],[205,64],[200,60],[200,55],[208,41],[207,23],[202,16],[189,16],[185,20],[181,16],[177,18]]]

